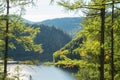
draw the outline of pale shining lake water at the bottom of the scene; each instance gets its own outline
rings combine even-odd
[[[69,72],[55,66],[8,65],[10,77],[18,76],[20,80],[76,80]],[[16,69],[16,70],[15,70]]]

